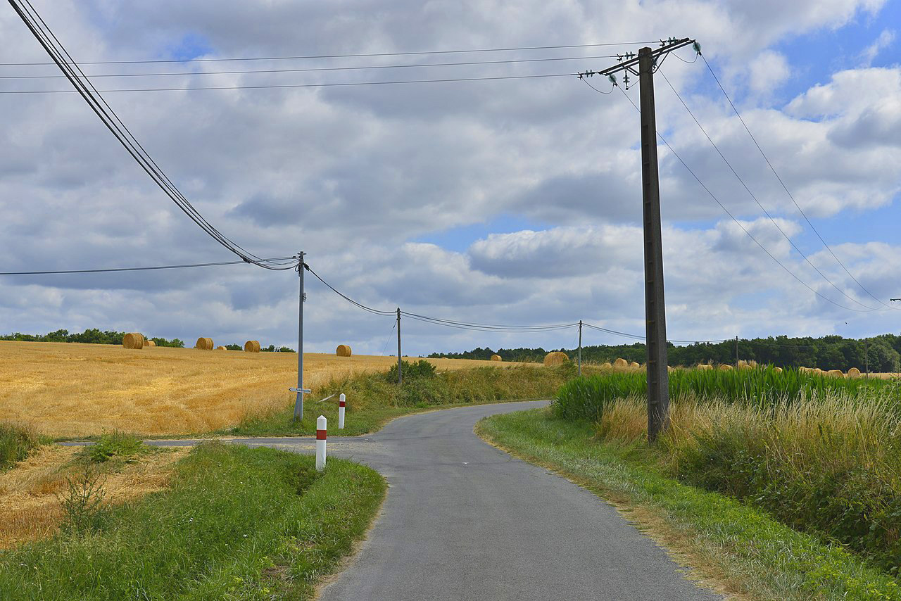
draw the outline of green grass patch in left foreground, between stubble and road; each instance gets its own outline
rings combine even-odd
[[[0,598],[307,599],[352,551],[386,485],[372,469],[208,442],[172,486],[101,529],[0,552]]]

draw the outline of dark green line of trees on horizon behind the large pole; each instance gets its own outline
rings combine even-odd
[[[688,367],[698,363],[735,364],[735,341],[697,342],[687,346],[669,344],[669,365]],[[464,352],[434,352],[432,359],[491,359],[491,355],[500,355],[505,361],[542,361],[544,355],[551,351],[563,351],[572,360],[576,359],[577,349],[474,349]],[[619,345],[596,345],[582,347],[582,360],[592,363],[605,363],[622,357],[624,360],[644,363],[647,360],[643,342]],[[858,368],[875,372],[896,372],[901,363],[901,336],[880,334],[872,338],[855,340],[842,336],[824,336],[822,338],[755,338],[738,341],[738,358],[755,360],[758,363],[772,364],[779,367],[807,367],[820,369]]]

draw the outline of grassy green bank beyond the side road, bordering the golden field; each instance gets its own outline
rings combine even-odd
[[[405,363],[407,363],[405,361]],[[422,361],[422,363],[426,363]],[[426,363],[428,365],[428,363]],[[461,405],[551,398],[574,378],[572,365],[555,368],[472,368],[435,373],[407,363],[404,384],[397,386],[396,368],[388,372],[333,379],[314,389],[314,398],[334,394],[323,403],[307,401],[303,421],[294,422],[294,404],[268,415],[250,417],[217,434],[228,436],[300,436],[314,434],[316,418],[325,415],[330,436],[356,436],[377,431],[401,415]],[[431,366],[429,366],[431,367]],[[338,430],[338,397],[347,396],[344,430]],[[310,397],[308,396],[308,398]]]

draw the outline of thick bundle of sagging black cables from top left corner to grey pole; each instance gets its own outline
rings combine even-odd
[[[240,245],[225,237],[219,232],[212,223],[206,221],[204,216],[200,214],[196,208],[191,205],[187,198],[181,194],[172,180],[159,168],[159,165],[150,157],[147,150],[144,150],[132,132],[119,118],[113,108],[105,101],[104,97],[97,91],[96,87],[91,83],[90,79],[85,75],[84,71],[78,66],[68,51],[56,37],[56,35],[44,23],[41,15],[34,10],[29,0],[20,3],[17,0],[9,0],[9,4],[13,6],[16,14],[22,18],[25,26],[32,32],[35,39],[41,44],[44,50],[50,55],[50,59],[66,75],[69,82],[76,88],[79,96],[85,99],[91,110],[100,118],[106,128],[113,133],[117,141],[132,156],[132,159],[141,166],[142,169],[150,176],[153,182],[178,206],[179,209],[188,218],[196,223],[204,232],[222,244],[226,249],[241,257],[249,263],[258,265],[265,269],[293,269],[292,266],[270,265],[266,260],[260,259],[257,255],[244,250]]]

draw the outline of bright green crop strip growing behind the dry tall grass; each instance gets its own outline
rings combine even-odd
[[[596,420],[605,406],[616,399],[646,396],[647,389],[644,370],[597,374],[571,380],[562,387],[555,407],[560,417]],[[676,369],[669,373],[672,398],[727,398],[760,406],[824,398],[834,393],[866,396],[883,391],[901,398],[896,380],[835,378],[797,369]]]

